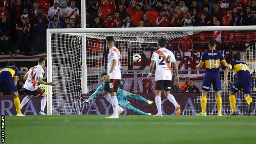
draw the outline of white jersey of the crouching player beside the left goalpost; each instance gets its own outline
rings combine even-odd
[[[27,74],[28,74],[28,77],[25,82],[24,88],[30,91],[37,90],[38,77],[43,78],[43,75],[44,75],[43,68],[40,65],[34,66],[30,68]]]

